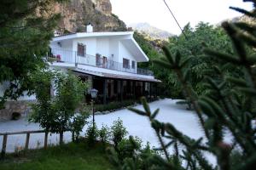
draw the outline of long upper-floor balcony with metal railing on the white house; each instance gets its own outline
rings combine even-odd
[[[132,65],[124,65],[123,63],[102,58],[100,56],[93,56],[89,54],[84,54],[84,56],[81,56],[76,51],[71,50],[51,48],[47,59],[49,62],[90,65],[113,71],[123,71],[139,75],[154,76],[153,71],[137,68],[136,66],[132,67]]]

